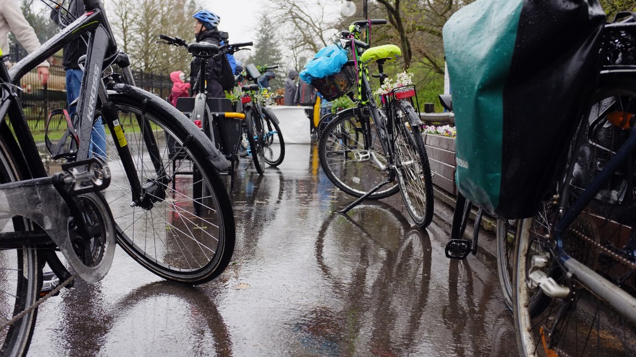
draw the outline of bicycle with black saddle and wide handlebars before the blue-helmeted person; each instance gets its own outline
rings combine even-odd
[[[232,189],[234,187],[235,163],[239,161],[237,152],[240,144],[240,120],[245,119],[245,114],[234,112],[229,99],[207,98],[205,76],[200,74],[205,73],[209,58],[225,56],[226,53],[233,55],[237,51],[245,50],[246,46],[252,46],[253,43],[223,44],[218,47],[205,42],[188,44],[179,37],[170,37],[163,34],[160,34],[159,38],[163,41],[157,41],[158,43],[186,48],[193,57],[200,58],[199,76],[197,76],[197,83],[195,84],[197,95],[195,95],[195,98],[179,98],[177,100],[177,109],[181,112],[188,112],[194,123],[210,139],[212,145],[223,152],[225,158],[230,161],[228,174],[232,178],[230,179],[230,189]]]

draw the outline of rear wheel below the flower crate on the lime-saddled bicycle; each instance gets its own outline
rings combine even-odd
[[[429,156],[424,149],[420,130],[410,123],[418,121],[415,109],[406,100],[392,102],[395,131],[394,162],[397,182],[404,205],[415,221],[424,229],[433,219],[433,184]]]

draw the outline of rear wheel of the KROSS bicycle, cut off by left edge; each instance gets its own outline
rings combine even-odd
[[[29,178],[26,163],[22,161],[17,143],[6,125],[0,125],[0,183],[15,182]],[[13,227],[4,227],[5,231],[24,231],[27,224],[22,219],[13,219]],[[25,308],[32,306],[39,299],[42,288],[42,270],[44,255],[38,253],[35,246],[24,246],[18,249],[3,250],[3,274],[0,277],[0,309],[6,321]],[[6,317],[5,317],[6,316]],[[9,318],[9,316],[11,316]],[[36,325],[38,309],[25,314],[17,322],[0,331],[0,354],[3,356],[25,356],[29,351],[31,337]],[[6,322],[3,320],[3,325]]]

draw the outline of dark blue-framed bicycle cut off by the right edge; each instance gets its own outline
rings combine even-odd
[[[603,29],[598,83],[555,196],[516,222],[520,353],[636,353],[636,22]]]

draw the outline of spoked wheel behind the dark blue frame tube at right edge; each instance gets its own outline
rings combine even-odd
[[[619,151],[625,135],[634,130],[621,129],[611,124],[608,118],[612,113],[619,113],[623,118],[636,114],[636,77],[608,74],[602,75],[599,83],[591,104],[584,108],[582,124],[572,141],[574,149],[569,152],[562,175],[565,184],[557,192],[559,208],[563,212],[568,212],[569,206]],[[515,330],[522,356],[551,351],[570,356],[636,354],[636,323],[625,316],[624,309],[617,311],[593,292],[579,278],[579,271],[565,274],[560,268],[562,263],[555,259],[559,252],[553,252],[556,243],[562,249],[560,252],[570,257],[565,262],[566,266],[576,260],[602,276],[604,281],[599,281],[600,284],[619,288],[633,297],[635,283],[624,277],[633,276],[636,271],[633,265],[616,259],[627,257],[626,261],[633,264],[632,248],[629,247],[636,239],[633,215],[636,203],[631,194],[621,196],[620,192],[616,192],[621,190],[621,182],[633,175],[633,158],[632,152],[625,165],[614,171],[611,180],[594,192],[590,203],[577,213],[572,224],[565,227],[559,237],[551,238],[546,232],[537,231],[537,223],[541,220],[523,220],[516,239],[514,305]],[[629,187],[625,189],[632,192]],[[618,201],[615,201],[617,198]],[[563,214],[563,217],[566,215]],[[561,215],[553,217],[556,225],[561,218]],[[560,241],[555,241],[557,238]],[[532,266],[532,262],[540,257],[547,259],[546,262]],[[531,268],[534,270],[531,271]],[[570,289],[563,298],[546,297],[546,307],[541,314],[532,311],[530,303],[537,294],[543,294],[543,290],[527,285],[527,281],[531,281],[530,273],[537,271],[553,277],[557,285]],[[555,328],[550,330],[550,327]]]

